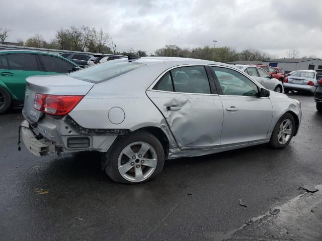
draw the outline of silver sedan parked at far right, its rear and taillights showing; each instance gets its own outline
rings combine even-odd
[[[317,73],[315,70],[295,70],[284,80],[284,92],[290,90],[314,93],[317,87]]]

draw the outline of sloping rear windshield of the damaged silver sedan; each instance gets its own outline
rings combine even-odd
[[[127,59],[107,61],[89,68],[72,72],[68,74],[68,76],[91,83],[101,83],[145,65],[146,64],[137,62],[128,62]]]

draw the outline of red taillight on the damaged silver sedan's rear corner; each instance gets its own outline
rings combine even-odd
[[[36,94],[35,109],[45,111],[50,115],[65,115],[69,113],[81,99],[83,95],[50,95]]]

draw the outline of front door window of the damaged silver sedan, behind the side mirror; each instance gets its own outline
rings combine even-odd
[[[243,74],[222,67],[212,69],[224,95],[258,96],[257,85]]]

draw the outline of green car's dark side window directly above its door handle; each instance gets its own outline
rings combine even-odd
[[[8,54],[10,69],[40,71],[35,54]]]

